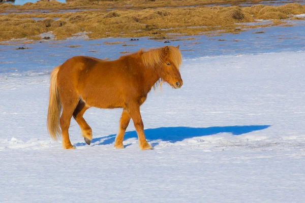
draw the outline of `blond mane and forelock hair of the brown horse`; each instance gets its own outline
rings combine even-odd
[[[155,69],[156,66],[161,65],[163,61],[163,53],[162,49],[164,47],[155,48],[155,49],[149,49],[148,51],[142,52],[142,61],[144,65],[150,69]],[[142,51],[142,50],[141,50]],[[168,58],[169,61],[176,67],[176,69],[179,70],[179,66],[182,62],[182,56],[177,47],[174,46],[168,46]],[[162,83],[163,80],[160,78],[153,86],[154,90],[160,86],[160,89],[162,90]]]

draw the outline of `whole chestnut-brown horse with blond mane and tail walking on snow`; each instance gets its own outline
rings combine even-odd
[[[47,118],[50,136],[56,140],[61,128],[63,148],[74,149],[68,133],[73,116],[85,142],[90,145],[92,129],[83,118],[85,111],[90,107],[123,108],[115,148],[124,148],[124,134],[132,118],[140,148],[152,149],[145,139],[140,106],[151,87],[163,81],[173,88],[182,86],[180,64],[179,46],[140,50],[113,61],[87,56],[68,59],[51,73]]]

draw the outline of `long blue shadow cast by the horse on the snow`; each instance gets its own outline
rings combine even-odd
[[[224,127],[158,127],[145,129],[145,137],[148,141],[161,140],[175,143],[187,138],[210,136],[221,132],[229,132],[234,136],[245,134],[248,132],[263,130],[270,127],[270,125],[244,125],[244,126],[224,126]],[[100,142],[102,139],[106,139],[98,145],[108,145],[114,142],[116,134],[110,134],[106,137],[95,138],[91,143]],[[125,133],[124,140],[130,138],[137,138],[136,131],[128,131]],[[76,146],[82,146],[85,143],[77,143]]]

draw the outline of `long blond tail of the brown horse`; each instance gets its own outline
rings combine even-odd
[[[60,136],[59,128],[59,116],[62,111],[62,104],[60,103],[59,91],[57,87],[57,74],[60,65],[55,67],[51,73],[50,79],[50,96],[49,96],[49,108],[47,117],[47,127],[52,139],[57,140],[57,136]]]

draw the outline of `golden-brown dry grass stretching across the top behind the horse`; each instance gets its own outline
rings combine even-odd
[[[255,0],[250,2],[257,3],[261,1]],[[155,2],[151,2],[149,0],[76,0],[68,1],[67,4],[58,3],[56,1],[41,1],[35,4],[27,3],[23,6],[0,4],[0,12],[6,11],[8,8],[13,8],[13,10],[10,10],[11,14],[0,15],[0,41],[13,38],[37,39],[38,37],[35,36],[47,31],[53,31],[56,39],[65,39],[81,31],[89,32],[88,36],[90,39],[154,36],[152,39],[164,40],[170,39],[170,37],[167,36],[168,32],[184,36],[201,35],[202,33],[211,33],[211,31],[217,31],[218,33],[232,32],[237,34],[242,31],[242,28],[254,28],[257,26],[236,25],[235,23],[254,22],[255,19],[274,19],[271,25],[260,26],[280,25],[283,24],[283,21],[280,20],[288,18],[291,14],[296,15],[305,13],[305,6],[299,4],[287,4],[278,7],[255,5],[243,8],[237,6],[178,7],[235,3],[245,3],[245,1],[156,0]],[[171,7],[156,8],[165,6]],[[126,9],[127,7],[133,9]],[[143,9],[143,7],[146,7],[146,9]],[[149,9],[149,7],[155,9]],[[116,9],[109,12],[109,10],[107,10],[109,8]],[[99,10],[86,10],[75,13],[29,12],[28,14],[18,14],[19,11],[26,11],[29,9],[50,9],[52,11],[58,11],[59,9]],[[34,17],[44,19],[35,21],[31,19]],[[60,19],[54,20],[53,18]]]

